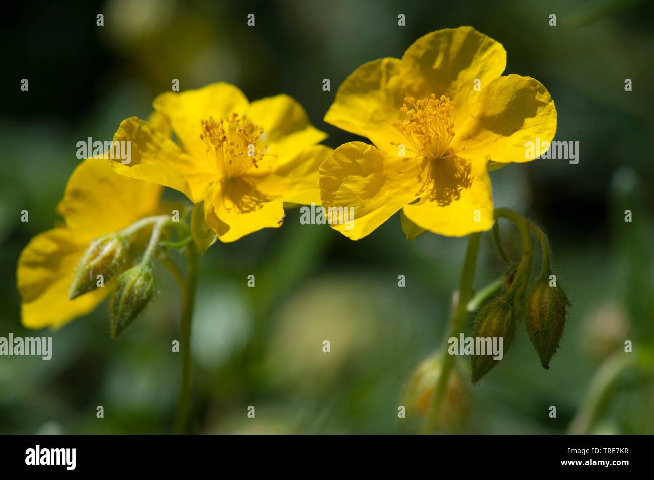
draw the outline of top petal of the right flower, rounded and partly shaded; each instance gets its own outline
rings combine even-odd
[[[481,91],[504,72],[502,44],[472,27],[436,30],[417,39],[402,57],[402,81],[416,99],[445,95],[455,108],[455,132],[466,123]],[[455,137],[456,138],[456,137]]]

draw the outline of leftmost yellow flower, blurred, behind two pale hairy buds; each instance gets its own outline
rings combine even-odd
[[[94,238],[156,213],[161,190],[159,185],[116,175],[106,159],[82,161],[58,206],[65,225],[32,238],[18,259],[23,325],[60,327],[93,310],[111,287],[69,300],[82,254]]]

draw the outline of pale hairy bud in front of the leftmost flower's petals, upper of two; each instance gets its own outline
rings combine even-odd
[[[77,298],[82,293],[98,287],[101,276],[103,285],[118,272],[125,261],[126,240],[117,233],[108,233],[95,238],[84,251],[75,272],[75,280],[69,290],[69,298]]]

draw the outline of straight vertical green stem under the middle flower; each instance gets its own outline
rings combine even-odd
[[[182,355],[182,383],[177,404],[175,432],[186,434],[189,431],[191,409],[191,321],[198,283],[198,253],[192,247],[186,248],[186,285],[182,306],[181,342],[179,352]]]

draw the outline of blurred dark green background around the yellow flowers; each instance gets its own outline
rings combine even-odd
[[[336,148],[358,139],[322,121],[349,73],[371,59],[401,57],[424,33],[472,25],[504,45],[506,73],[533,76],[549,89],[559,112],[556,139],[580,142],[578,165],[538,160],[491,175],[495,205],[519,210],[549,234],[573,306],[551,370],[540,366],[520,325],[511,350],[481,383],[472,387],[464,373],[443,428],[449,421],[454,432],[654,433],[653,3],[111,0],[15,7],[0,33],[7,83],[0,336],[49,334],[20,325],[14,272],[29,238],[58,220],[78,140],[110,140],[124,118],[146,118],[152,99],[177,78],[182,90],[226,81],[249,99],[288,93]],[[103,27],[95,25],[97,13]],[[246,25],[249,13],[255,27]],[[20,91],[22,78],[28,92]],[[324,78],[332,91],[322,91]],[[626,78],[633,91],[625,92]],[[623,219],[627,208],[632,223]],[[20,222],[22,209],[28,223]],[[419,432],[420,417],[398,419],[398,406],[411,372],[443,342],[466,241],[426,233],[408,242],[396,215],[351,242],[324,225],[300,225],[298,210],[287,214],[281,229],[218,243],[201,259],[195,431]],[[519,238],[502,227],[517,258]],[[250,274],[254,289],[246,287]],[[400,274],[405,288],[398,288]],[[500,274],[486,234],[475,288]],[[0,357],[0,433],[169,432],[180,301],[163,268],[158,291],[119,340],[109,338],[103,304],[52,333],[50,362]],[[323,340],[331,353],[322,353]],[[623,353],[625,340],[634,353]],[[625,355],[634,359],[627,366]],[[98,405],[103,419],[95,417]],[[256,419],[246,417],[250,405]],[[557,418],[549,406],[557,406]]]

